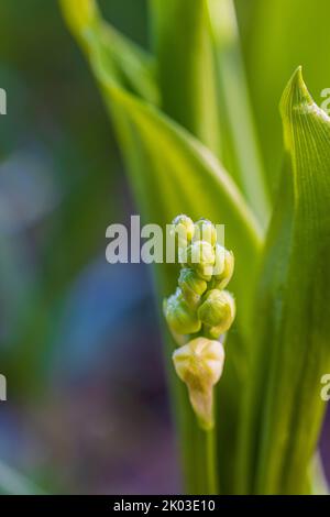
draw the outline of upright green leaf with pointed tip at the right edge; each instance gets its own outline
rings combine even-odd
[[[280,110],[286,164],[255,309],[240,490],[297,494],[308,490],[326,409],[320,381],[330,371],[330,119],[300,68]]]

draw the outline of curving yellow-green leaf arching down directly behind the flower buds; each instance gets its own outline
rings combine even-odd
[[[72,15],[75,15],[75,11],[72,11]],[[116,59],[111,58],[109,52],[105,52],[98,29],[94,26],[90,32],[92,37],[84,40],[84,47],[114,121],[130,183],[144,222],[158,223],[165,228],[175,216],[185,212],[193,219],[204,216],[226,224],[226,244],[234,251],[237,257],[235,275],[231,285],[238,300],[238,320],[243,343],[239,349],[231,346],[228,359],[232,363],[239,363],[249,352],[243,337],[250,330],[248,323],[251,294],[254,290],[262,245],[254,216],[233,180],[209,150],[158,109],[124,88]],[[161,310],[163,297],[168,296],[175,288],[177,266],[162,264],[155,266],[155,272]],[[170,364],[174,343],[167,331],[164,331],[167,337],[168,348],[165,355],[176,405],[187,490],[191,493],[204,493],[207,446],[202,431],[196,425],[186,391],[174,375]],[[228,378],[232,380],[231,375]],[[235,377],[234,381],[228,382],[226,386],[240,393],[238,386],[242,378]],[[222,393],[222,396],[224,398],[226,394]],[[234,396],[228,398],[235,399]],[[238,400],[237,398],[235,404]],[[227,429],[230,429],[235,422],[228,421],[227,425]],[[222,440],[222,446],[223,443]],[[234,450],[235,442],[228,441],[226,447],[229,454]]]

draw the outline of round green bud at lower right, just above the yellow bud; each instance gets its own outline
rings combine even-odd
[[[227,332],[235,317],[235,302],[227,290],[212,289],[198,309],[198,318],[213,339]]]

